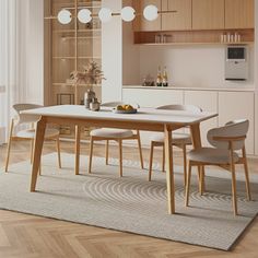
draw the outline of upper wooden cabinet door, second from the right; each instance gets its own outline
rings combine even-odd
[[[192,0],[192,30],[224,28],[225,0]]]

